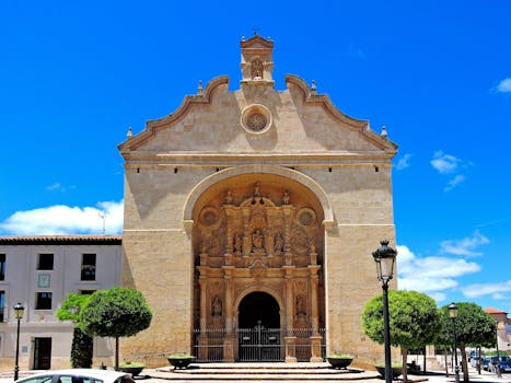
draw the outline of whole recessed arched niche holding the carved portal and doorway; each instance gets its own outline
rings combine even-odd
[[[204,190],[193,217],[198,360],[321,361],[317,196],[279,174],[240,174]]]

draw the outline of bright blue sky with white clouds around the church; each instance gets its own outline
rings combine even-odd
[[[128,127],[199,80],[237,89],[256,28],[277,89],[315,80],[399,146],[399,287],[511,312],[510,19],[506,0],[3,1],[0,235],[120,232]]]

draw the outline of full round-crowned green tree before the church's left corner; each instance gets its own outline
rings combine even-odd
[[[88,335],[115,338],[115,369],[119,369],[119,338],[133,336],[151,324],[152,312],[140,291],[114,287],[91,295],[80,315]]]

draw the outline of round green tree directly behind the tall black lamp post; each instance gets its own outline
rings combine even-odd
[[[434,343],[440,326],[437,303],[432,298],[417,291],[388,291],[388,317],[391,345],[400,347],[403,380],[407,382],[408,350]],[[362,328],[372,340],[381,345],[384,343],[382,294],[365,303]]]

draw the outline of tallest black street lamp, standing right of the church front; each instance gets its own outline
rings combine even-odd
[[[383,338],[385,343],[385,383],[392,383],[391,329],[388,326],[388,282],[393,277],[397,252],[388,247],[388,241],[380,241],[381,246],[373,253],[378,279],[383,289]]]

